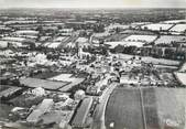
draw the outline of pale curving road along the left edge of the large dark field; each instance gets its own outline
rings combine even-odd
[[[92,129],[106,129],[105,127],[105,111],[107,103],[109,100],[110,94],[118,86],[117,83],[110,84],[107,89],[102,93],[99,98],[99,104],[97,105],[94,114]]]

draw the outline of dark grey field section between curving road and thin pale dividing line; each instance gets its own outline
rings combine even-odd
[[[106,127],[114,123],[114,129],[144,129],[138,89],[117,88],[106,108]]]

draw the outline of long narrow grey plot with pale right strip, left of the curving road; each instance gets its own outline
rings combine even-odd
[[[91,104],[92,104],[92,97],[88,97],[83,100],[72,122],[72,126],[74,128],[84,128],[87,126],[86,119],[87,119],[89,109],[91,107]]]

